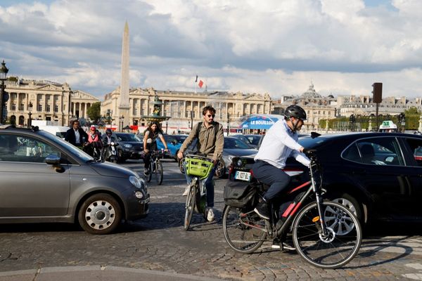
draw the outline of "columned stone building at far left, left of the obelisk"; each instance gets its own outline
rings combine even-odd
[[[83,91],[72,91],[67,83],[16,79],[6,81],[7,122],[27,126],[28,120],[39,119],[68,126],[72,117],[88,119],[87,109],[98,98]],[[32,107],[30,107],[32,105]]]

